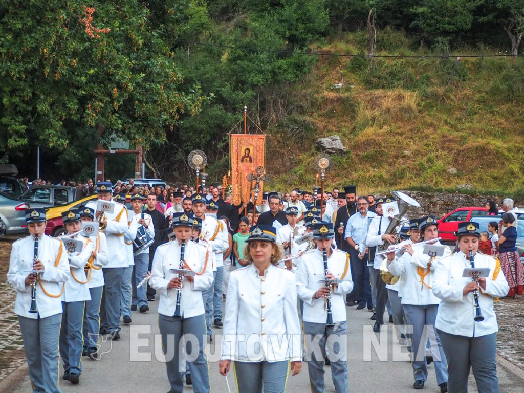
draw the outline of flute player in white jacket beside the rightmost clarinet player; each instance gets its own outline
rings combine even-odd
[[[439,237],[439,230],[436,220],[432,216],[423,217],[419,220],[419,231],[424,241],[430,241]],[[433,244],[441,245],[439,241]],[[402,308],[406,313],[408,323],[413,327],[412,348],[413,348],[413,367],[414,383],[413,388],[423,389],[424,383],[428,379],[428,367],[426,364],[425,347],[427,344],[428,333],[425,331],[429,326],[435,325],[436,313],[439,307],[439,299],[431,291],[433,285],[433,275],[435,268],[439,265],[442,258],[451,255],[449,247],[444,246],[442,257],[429,257],[423,254],[423,244],[405,244],[406,252],[400,257],[396,253],[387,254],[388,270],[394,276],[405,275],[406,283],[402,289]],[[433,332],[429,332],[430,334]],[[435,360],[436,382],[440,386],[441,393],[447,392],[447,364],[439,335],[434,332],[436,346],[439,353],[436,353],[435,343],[431,341],[431,351]],[[422,338],[425,340],[422,342]],[[433,338],[432,335],[430,338]]]

